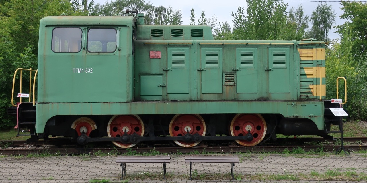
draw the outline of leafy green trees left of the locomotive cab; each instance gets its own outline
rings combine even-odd
[[[68,0],[5,0],[0,4],[0,128],[14,126],[6,114],[11,104],[14,71],[37,69],[40,19],[63,12],[73,13]],[[23,78],[25,79],[25,78]]]

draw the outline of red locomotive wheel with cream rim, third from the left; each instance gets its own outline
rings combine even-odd
[[[189,131],[189,134],[199,134],[205,136],[206,126],[204,119],[199,114],[177,114],[175,115],[169,127],[171,137],[181,137]],[[175,141],[175,143],[182,147],[193,147],[200,142],[184,142]]]

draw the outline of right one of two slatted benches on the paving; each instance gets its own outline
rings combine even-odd
[[[190,178],[191,178],[191,163],[230,163],[230,174],[232,175],[232,180],[235,180],[233,175],[233,167],[235,163],[240,163],[238,160],[238,156],[207,156],[207,155],[199,155],[199,156],[185,156],[185,163],[190,163]]]

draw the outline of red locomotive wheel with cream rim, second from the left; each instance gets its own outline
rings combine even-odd
[[[144,134],[144,124],[138,115],[114,115],[111,117],[107,125],[108,137],[121,137],[125,134],[134,134],[140,136]],[[121,148],[129,148],[137,145],[136,143],[122,143],[112,141],[116,146]]]

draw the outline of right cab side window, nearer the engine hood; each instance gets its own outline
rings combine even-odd
[[[89,29],[87,50],[92,53],[113,53],[116,51],[115,29]]]

